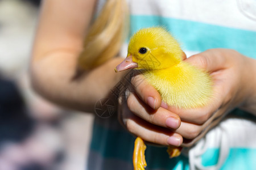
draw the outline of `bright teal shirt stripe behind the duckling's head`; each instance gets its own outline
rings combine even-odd
[[[256,32],[254,31],[163,16],[131,15],[130,22],[130,35],[140,28],[163,26],[181,42],[184,50],[201,52],[211,48],[229,48],[256,58]]]

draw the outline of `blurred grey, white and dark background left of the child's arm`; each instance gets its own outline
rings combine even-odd
[[[58,108],[30,87],[39,0],[0,0],[0,169],[85,169],[93,116]]]

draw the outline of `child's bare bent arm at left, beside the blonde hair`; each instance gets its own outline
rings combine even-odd
[[[113,58],[72,79],[95,6],[96,0],[43,1],[30,66],[36,91],[64,107],[86,112],[94,112],[96,102],[125,74],[114,72],[122,59]]]

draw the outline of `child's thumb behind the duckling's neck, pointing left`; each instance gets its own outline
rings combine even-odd
[[[209,49],[184,61],[212,73],[213,71],[225,69],[227,63],[225,53],[225,49]]]

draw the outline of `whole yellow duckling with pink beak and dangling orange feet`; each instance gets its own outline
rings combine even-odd
[[[144,28],[131,37],[126,59],[115,71],[143,70],[146,81],[158,90],[162,100],[176,108],[199,108],[212,96],[212,80],[208,73],[183,62],[184,52],[166,29]],[[134,148],[134,169],[144,169],[146,146],[137,138]],[[168,148],[171,157],[181,148]],[[141,168],[139,168],[141,167]]]

